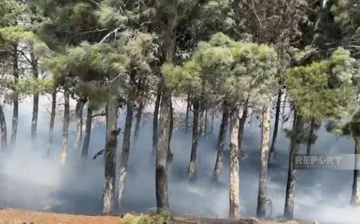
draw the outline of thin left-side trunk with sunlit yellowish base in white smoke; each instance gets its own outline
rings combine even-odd
[[[64,120],[62,126],[62,142],[61,142],[61,164],[66,163],[67,157],[67,140],[69,134],[69,113],[70,113],[70,104],[69,104],[69,90],[67,87],[64,88]]]

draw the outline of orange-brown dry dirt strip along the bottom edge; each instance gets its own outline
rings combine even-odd
[[[174,218],[168,224],[300,224],[295,221],[275,222],[255,219],[226,220]],[[0,209],[0,224],[129,224],[120,216],[84,216],[34,212],[20,209]]]

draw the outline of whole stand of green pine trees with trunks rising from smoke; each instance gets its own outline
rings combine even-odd
[[[292,155],[299,153],[301,144],[312,153],[321,123],[329,132],[354,139],[354,151],[360,154],[359,49],[357,0],[0,0],[1,151],[17,144],[22,98],[30,96],[33,101],[33,148],[39,96],[51,99],[44,151],[48,156],[53,154],[55,113],[63,107],[58,158],[62,165],[69,149],[78,152],[79,160],[91,159],[91,121],[95,111],[102,111],[106,117],[102,214],[108,215],[124,197],[129,154],[143,108],[154,104],[152,145],[144,150],[152,151],[156,160],[156,205],[169,209],[168,171],[176,159],[170,147],[172,99],[183,97],[187,101],[183,131],[192,136],[186,152],[188,179],[198,178],[198,145],[214,132],[219,137],[213,181],[218,181],[229,136],[228,215],[240,218],[243,133],[249,115],[258,114],[256,214],[264,218],[268,169],[283,129],[283,105],[290,104],[293,126],[285,130],[291,146],[283,216],[291,220],[296,194]],[[56,104],[58,94],[63,95],[63,105]],[[71,99],[77,102],[75,146],[68,144]],[[6,126],[5,105],[13,106],[11,129]],[[117,126],[120,110],[126,111],[122,130]],[[214,130],[218,115],[220,129]],[[355,170],[349,198],[355,206],[360,206],[359,180]]]

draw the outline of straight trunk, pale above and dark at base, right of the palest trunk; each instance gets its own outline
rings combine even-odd
[[[261,158],[259,173],[258,207],[256,215],[259,218],[266,217],[266,182],[268,174],[269,157],[269,136],[270,136],[270,102],[263,108],[263,123],[261,128]]]

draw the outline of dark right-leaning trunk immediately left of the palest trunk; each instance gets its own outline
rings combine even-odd
[[[226,129],[227,129],[227,121],[229,119],[229,111],[226,103],[223,104],[223,118],[220,125],[219,130],[219,145],[218,145],[218,155],[216,156],[215,168],[214,168],[214,181],[219,180],[221,168],[223,167],[223,152],[225,145],[225,137],[226,137]]]

